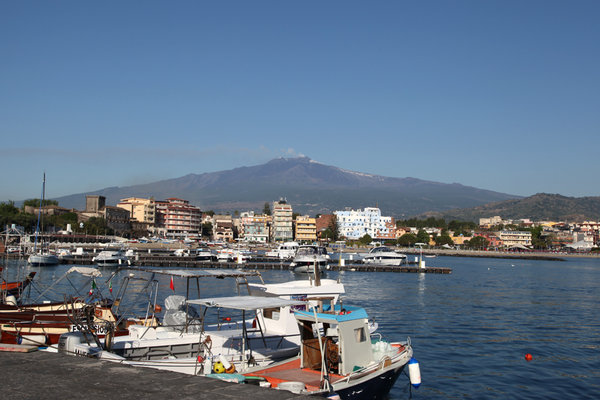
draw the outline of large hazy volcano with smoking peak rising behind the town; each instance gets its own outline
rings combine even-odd
[[[379,207],[399,218],[426,211],[446,211],[515,199],[513,196],[460,185],[390,178],[348,171],[307,157],[277,158],[266,164],[227,171],[189,174],[144,185],[109,187],[58,200],[62,207],[84,209],[85,195],[106,197],[114,205],[126,197],[178,197],[202,210],[262,211],[265,202],[286,198],[294,212],[315,215],[346,207]]]

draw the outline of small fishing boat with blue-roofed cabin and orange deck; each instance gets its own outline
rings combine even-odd
[[[243,373],[247,379],[330,399],[385,399],[413,360],[410,338],[390,343],[381,335],[370,334],[363,308],[338,305],[324,312],[297,310],[294,314],[300,325],[300,354],[251,368]],[[324,334],[313,329],[315,324],[323,324]]]

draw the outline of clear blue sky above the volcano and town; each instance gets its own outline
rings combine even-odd
[[[308,156],[600,195],[600,1],[0,2],[0,201]]]

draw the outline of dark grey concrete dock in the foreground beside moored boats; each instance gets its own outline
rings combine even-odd
[[[0,352],[3,398],[306,399],[285,390],[34,351]]]

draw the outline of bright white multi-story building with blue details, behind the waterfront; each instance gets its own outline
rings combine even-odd
[[[373,239],[394,239],[395,224],[392,217],[384,217],[376,207],[364,210],[335,211],[340,236],[357,240],[364,235]]]

